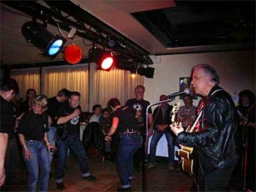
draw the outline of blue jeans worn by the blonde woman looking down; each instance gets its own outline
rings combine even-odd
[[[27,161],[24,158],[26,169],[29,172],[29,177],[26,184],[27,191],[36,191],[37,181],[40,167],[40,176],[39,184],[40,191],[48,191],[48,179],[49,179],[49,159],[48,159],[48,150],[45,145],[45,142],[42,141],[26,141],[26,147],[28,147],[31,158]],[[25,157],[23,152],[23,157]],[[38,167],[39,165],[39,167]]]

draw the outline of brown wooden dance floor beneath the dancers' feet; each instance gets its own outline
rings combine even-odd
[[[120,187],[116,166],[113,162],[102,162],[101,158],[89,158],[89,168],[91,174],[97,177],[96,182],[82,180],[77,159],[74,156],[69,156],[65,168],[64,184],[66,188],[64,191],[116,191]],[[20,177],[23,177],[22,174]],[[176,165],[175,171],[170,172],[164,162],[159,162],[154,169],[147,170],[146,178],[147,191],[189,191],[193,179],[187,174],[183,174],[179,165]],[[48,187],[49,191],[59,191],[56,188],[54,176],[50,177]],[[11,191],[25,191],[25,185],[13,185]],[[142,174],[140,172],[134,174],[132,191],[142,191]]]

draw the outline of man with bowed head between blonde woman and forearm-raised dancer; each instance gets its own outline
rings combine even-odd
[[[49,125],[49,131],[47,132],[48,139],[50,142],[50,145],[56,146],[55,144],[55,135],[56,135],[56,113],[58,112],[59,107],[64,104],[65,101],[69,98],[70,91],[68,91],[66,88],[62,88],[57,96],[53,96],[52,98],[48,99],[48,110],[47,113],[50,116],[52,123]],[[50,169],[51,169],[51,162],[53,161],[53,152],[49,152],[49,163],[50,163]],[[52,172],[50,172],[50,175]]]

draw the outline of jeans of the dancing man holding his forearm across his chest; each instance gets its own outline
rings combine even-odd
[[[61,141],[58,144],[59,158],[57,160],[57,183],[61,183],[64,181],[64,165],[66,163],[68,147],[72,149],[72,151],[78,158],[82,177],[87,177],[90,175],[88,160],[86,158],[86,149],[83,147],[83,144],[80,141],[79,134],[72,134],[68,135],[67,138],[64,139],[64,141]]]

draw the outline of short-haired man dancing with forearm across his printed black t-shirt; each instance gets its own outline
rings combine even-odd
[[[86,158],[86,150],[83,147],[79,137],[80,113],[79,105],[80,93],[73,91],[70,93],[69,104],[61,106],[56,115],[58,125],[67,126],[67,136],[57,138],[59,158],[57,161],[56,185],[59,189],[64,189],[64,164],[67,158],[67,149],[70,147],[78,157],[83,180],[95,181],[96,178],[89,172],[88,160]],[[66,124],[66,125],[64,125]],[[57,137],[59,137],[57,135]],[[61,140],[62,139],[62,140]]]

